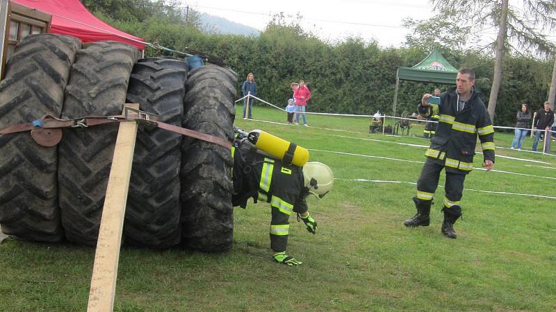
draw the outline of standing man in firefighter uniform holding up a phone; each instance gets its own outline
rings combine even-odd
[[[464,68],[457,73],[456,87],[440,95],[440,122],[431,139],[430,148],[425,155],[417,180],[417,196],[413,198],[417,214],[404,222],[407,227],[428,226],[432,197],[439,183],[439,175],[444,168],[445,196],[443,198],[444,220],[441,232],[444,236],[455,239],[454,223],[461,216],[462,191],[466,175],[473,170],[473,155],[477,135],[481,141],[484,155],[483,166],[490,171],[494,166],[494,130],[489,113],[475,90],[475,72]],[[422,116],[431,114],[427,99],[423,95],[418,107]]]

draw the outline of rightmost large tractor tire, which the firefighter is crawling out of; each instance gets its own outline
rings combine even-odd
[[[222,67],[190,71],[183,127],[233,141],[236,83],[236,74]],[[181,149],[183,245],[209,252],[228,250],[234,233],[230,150],[189,137]]]

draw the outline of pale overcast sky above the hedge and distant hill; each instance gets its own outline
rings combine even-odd
[[[335,1],[238,1],[193,0],[195,10],[224,17],[263,31],[272,15],[302,16],[302,27],[318,34],[322,40],[344,37],[375,39],[381,46],[400,46],[407,33],[402,19],[432,17],[427,0],[335,0]]]

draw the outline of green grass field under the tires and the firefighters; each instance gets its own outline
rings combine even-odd
[[[254,117],[284,122],[286,114],[255,107]],[[425,160],[428,141],[419,138],[422,124],[414,125],[412,137],[392,137],[368,134],[368,118],[308,119],[309,128],[236,121],[244,130],[263,129],[310,148],[311,160],[328,164],[338,179],[324,199],[309,201],[318,221],[316,235],[291,218],[288,253],[303,266],[272,262],[270,209],[250,204],[234,211],[234,248],[229,252],[124,248],[115,309],[556,309],[556,200],[507,194],[555,197],[556,157],[505,149],[512,135],[497,133],[496,144],[502,147],[497,155],[514,159],[498,157],[495,169],[505,172],[485,173],[477,170],[482,155],[475,156],[477,169],[466,178],[466,189],[479,191],[464,191],[464,216],[455,224],[458,238],[449,240],[440,233],[442,187],[436,191],[430,227],[402,225],[414,214],[415,185],[408,182],[416,182]],[[527,139],[525,148],[531,144]],[[441,185],[443,181],[441,177]],[[6,240],[0,245],[0,311],[85,310],[94,254],[71,244]]]

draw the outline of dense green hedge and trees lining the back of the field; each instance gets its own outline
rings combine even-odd
[[[377,42],[347,38],[330,44],[276,17],[259,36],[220,35],[202,31],[199,12],[169,1],[82,0],[93,14],[133,35],[178,51],[186,47],[218,55],[239,76],[238,90],[247,73],[253,72],[257,96],[270,103],[286,105],[290,83],[304,78],[311,85],[313,112],[374,114],[391,113],[396,71],[411,67],[430,53],[427,38],[408,42],[402,48],[381,48]],[[494,60],[489,51],[450,49],[434,46],[455,67],[477,71],[477,87],[488,105]],[[162,51],[147,49],[147,55]],[[507,55],[502,64],[502,84],[494,123],[515,125],[521,103],[541,109],[548,98],[553,62]],[[414,112],[423,93],[447,85],[400,82],[398,112]],[[239,94],[239,93],[238,93]]]

